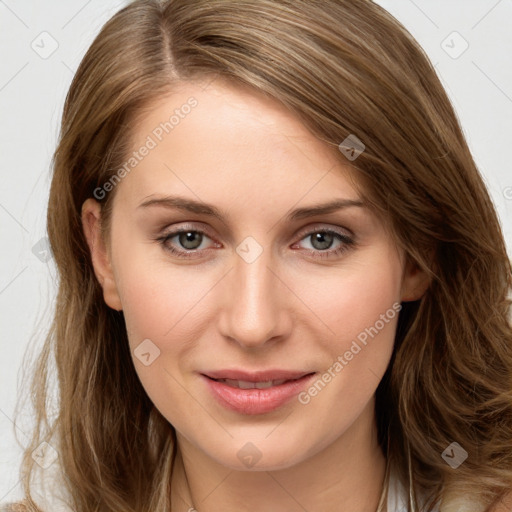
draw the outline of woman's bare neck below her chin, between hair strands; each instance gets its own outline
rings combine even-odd
[[[373,403],[342,436],[299,464],[273,471],[238,471],[177,434],[172,477],[176,512],[377,511],[386,460],[377,443]]]

